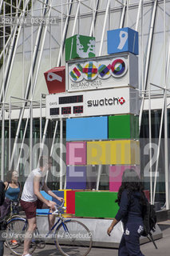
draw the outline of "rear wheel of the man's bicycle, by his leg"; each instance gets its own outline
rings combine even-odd
[[[20,256],[24,250],[24,238],[27,230],[27,222],[25,218],[12,218],[6,227],[6,245],[12,253]],[[34,252],[36,243],[31,242],[30,254]]]

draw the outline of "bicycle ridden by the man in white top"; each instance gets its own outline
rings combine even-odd
[[[57,222],[54,223],[51,230],[45,234],[45,238],[50,237],[52,234],[54,243],[57,247],[57,250],[63,256],[86,256],[89,254],[91,250],[93,239],[92,234],[89,231],[88,227],[85,224],[73,220],[73,219],[65,219],[62,214],[65,207],[63,206],[64,202],[61,206],[57,205],[57,209],[53,213],[42,213],[41,215],[49,215],[54,214],[58,217]],[[26,229],[28,226],[28,222],[26,218],[12,218],[10,222],[7,223],[7,234],[8,238],[6,238],[6,244],[9,249],[16,255],[20,256],[23,252],[24,246],[24,235],[17,235],[14,239],[17,240],[17,246],[11,246],[9,237],[10,233],[18,234],[18,231],[22,231],[22,234],[26,234]],[[44,248],[45,241],[42,239],[41,234],[38,229],[35,230],[35,237],[33,236],[31,244],[30,244],[30,254],[33,254],[36,248]],[[40,238],[37,236],[40,235]]]

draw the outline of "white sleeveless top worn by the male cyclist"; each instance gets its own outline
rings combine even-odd
[[[29,174],[28,178],[26,179],[26,183],[24,185],[23,191],[22,191],[22,201],[26,202],[35,202],[38,200],[38,197],[34,194],[34,177],[41,177],[40,180],[40,190],[42,190],[42,187],[44,186],[45,177],[43,177],[42,170],[35,169],[32,170],[32,172]]]

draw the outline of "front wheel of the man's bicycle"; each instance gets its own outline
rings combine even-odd
[[[89,254],[92,242],[91,232],[81,222],[69,220],[57,227],[55,244],[64,256],[85,256]]]

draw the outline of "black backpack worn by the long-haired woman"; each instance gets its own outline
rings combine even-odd
[[[156,230],[156,211],[155,211],[155,206],[151,205],[150,202],[148,202],[148,200],[143,210],[143,221],[144,221],[144,231],[142,232],[142,235],[144,237],[147,237],[150,241],[152,241],[154,246],[157,249],[156,243],[151,233],[151,232],[155,232]]]

